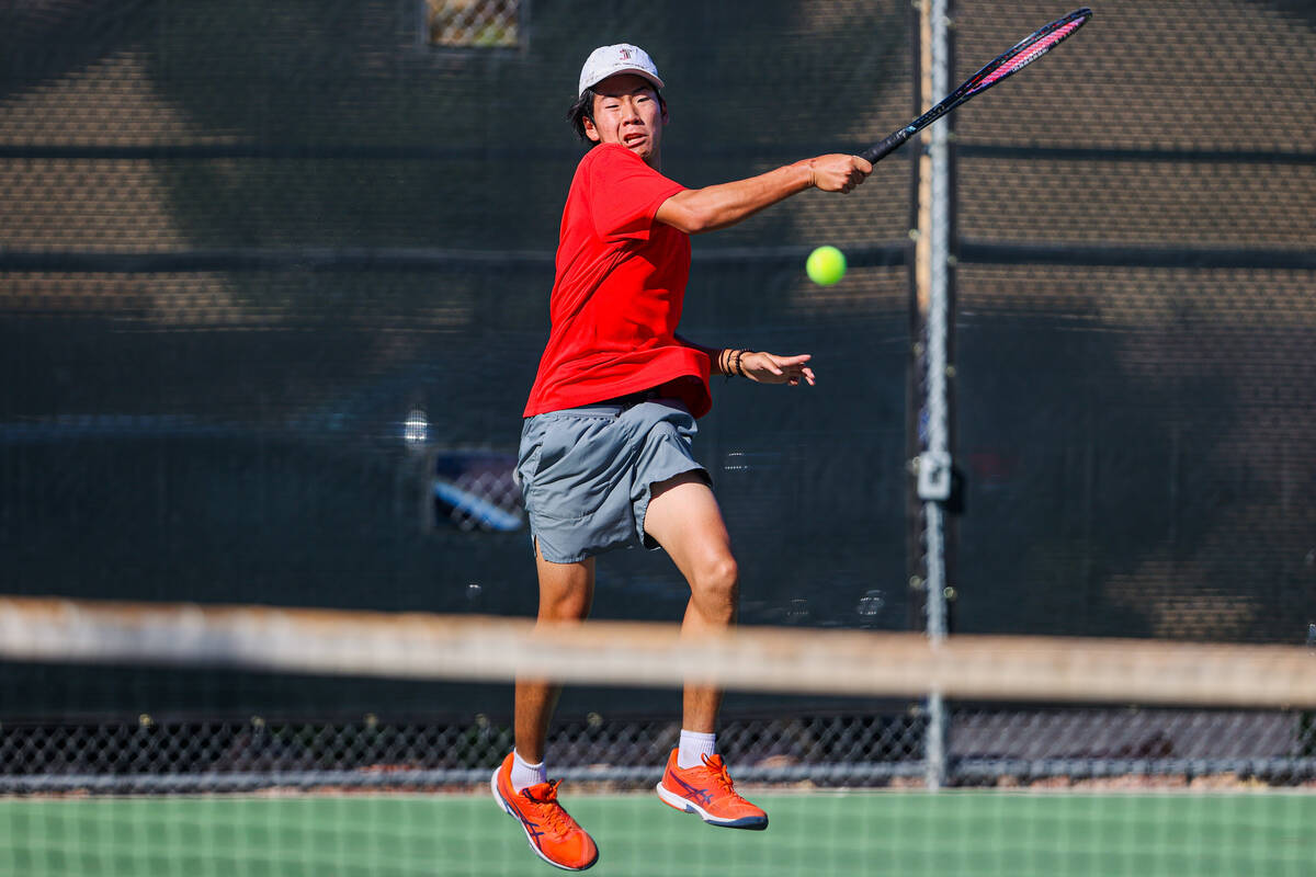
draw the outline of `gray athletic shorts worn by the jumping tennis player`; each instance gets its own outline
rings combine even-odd
[[[695,463],[695,418],[675,400],[603,402],[525,419],[516,477],[540,555],[553,563],[642,544],[649,489]]]

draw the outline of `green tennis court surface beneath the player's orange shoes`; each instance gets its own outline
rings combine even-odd
[[[755,795],[765,832],[717,831],[651,795],[570,795],[595,874],[1316,874],[1316,794]],[[0,873],[554,873],[483,795],[0,801]]]

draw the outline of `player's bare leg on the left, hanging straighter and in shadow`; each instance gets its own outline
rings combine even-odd
[[[579,622],[594,602],[594,557],[579,563],[550,563],[534,550],[540,573],[538,622]],[[544,761],[549,722],[562,685],[549,680],[516,680],[516,751],[530,764]]]

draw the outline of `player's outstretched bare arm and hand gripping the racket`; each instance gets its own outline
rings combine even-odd
[[[871,172],[873,164],[858,155],[820,155],[745,180],[678,192],[662,202],[655,218],[686,234],[713,231],[804,189],[849,192]]]

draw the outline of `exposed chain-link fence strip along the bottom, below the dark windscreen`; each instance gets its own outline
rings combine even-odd
[[[775,713],[779,713],[776,710]],[[790,718],[740,714],[719,749],[749,784],[920,788],[920,706]],[[557,723],[554,776],[608,789],[647,789],[678,743],[679,722]],[[950,722],[948,778],[992,788],[1316,788],[1309,713],[1167,709],[962,709]],[[443,790],[479,786],[512,748],[505,723],[157,721],[7,723],[7,794],[233,793],[263,789]]]

